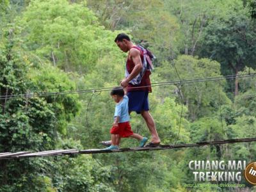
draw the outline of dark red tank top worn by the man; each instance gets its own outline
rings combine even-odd
[[[138,49],[140,51],[141,62],[143,62],[143,51],[137,46],[134,46],[132,48]],[[126,61],[126,67],[127,67],[127,70],[129,72],[129,74],[131,74],[134,66],[135,65],[134,65],[132,59],[129,59],[129,56],[128,56],[127,61]],[[152,89],[151,89],[151,83],[150,83],[150,78],[149,78],[150,74],[151,74],[150,70],[146,70],[144,76],[141,79],[141,83],[138,84],[138,85],[133,85],[133,84],[129,83],[128,86],[127,86],[127,92],[148,91],[148,92],[151,93]],[[136,88],[138,86],[147,86],[147,87]]]

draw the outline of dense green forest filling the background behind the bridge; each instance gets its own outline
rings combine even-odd
[[[0,151],[102,147],[115,108],[108,92],[5,96],[118,85],[126,57],[113,41],[118,33],[156,54],[152,83],[179,80],[175,67],[180,79],[248,74],[256,68],[255,17],[255,0],[1,0]],[[179,89],[156,86],[149,96],[162,143],[256,134],[254,77]],[[134,132],[150,137],[141,116],[131,117]],[[187,191],[195,183],[189,161],[207,159],[249,163],[256,143],[1,160],[0,191]],[[256,191],[241,184],[189,190]]]

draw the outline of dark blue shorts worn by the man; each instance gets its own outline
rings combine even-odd
[[[141,111],[149,111],[147,91],[128,92],[127,96],[129,97],[129,111],[136,111],[137,114]]]

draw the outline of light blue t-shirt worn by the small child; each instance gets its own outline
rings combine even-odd
[[[129,98],[127,97],[127,95],[124,95],[124,99],[121,102],[118,102],[118,104],[116,104],[114,116],[120,116],[120,123],[129,122],[130,120],[128,111],[128,101]]]

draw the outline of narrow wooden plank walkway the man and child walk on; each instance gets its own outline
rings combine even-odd
[[[0,153],[1,159],[19,159],[25,157],[45,157],[45,156],[63,156],[72,154],[102,154],[102,153],[113,153],[113,152],[135,152],[135,151],[150,151],[150,150],[165,150],[174,148],[188,148],[188,147],[202,147],[205,145],[222,145],[227,143],[245,143],[256,141],[256,138],[243,138],[233,140],[218,140],[218,141],[203,141],[198,143],[188,144],[177,144],[177,145],[159,145],[157,147],[135,147],[135,148],[120,148],[116,150],[104,150],[104,149],[87,149],[87,150],[76,150],[76,149],[58,149],[58,150],[46,150],[42,152],[2,152]]]

